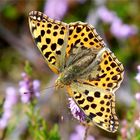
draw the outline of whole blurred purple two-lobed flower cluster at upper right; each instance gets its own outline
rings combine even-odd
[[[137,33],[136,27],[124,24],[114,12],[104,6],[98,8],[97,14],[103,22],[110,24],[111,33],[118,39],[126,39]]]

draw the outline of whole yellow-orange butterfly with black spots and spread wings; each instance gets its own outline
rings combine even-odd
[[[83,22],[67,24],[38,11],[29,13],[29,27],[48,66],[59,75],[56,87],[66,87],[90,122],[115,132],[115,91],[124,68],[95,28]]]

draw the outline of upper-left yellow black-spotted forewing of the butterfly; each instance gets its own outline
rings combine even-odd
[[[59,73],[65,60],[67,24],[53,20],[38,11],[29,14],[29,26],[34,41],[53,72]],[[62,52],[63,50],[63,52]]]

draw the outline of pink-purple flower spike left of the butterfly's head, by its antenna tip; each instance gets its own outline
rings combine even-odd
[[[19,93],[23,103],[30,102],[34,97],[40,96],[39,80],[32,80],[26,73],[21,74],[23,80],[19,82]]]

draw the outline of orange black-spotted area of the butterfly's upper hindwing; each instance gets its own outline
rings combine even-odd
[[[74,22],[69,24],[67,56],[73,47],[85,46],[97,53],[105,46],[103,39],[97,34],[95,28],[87,23]]]

